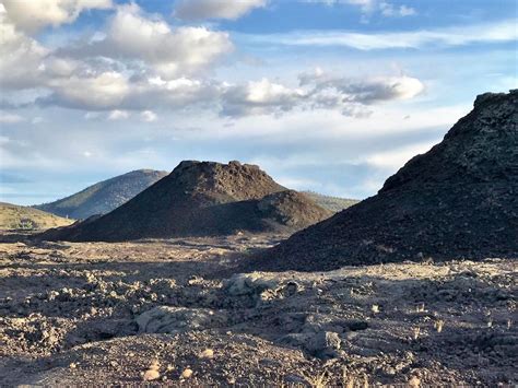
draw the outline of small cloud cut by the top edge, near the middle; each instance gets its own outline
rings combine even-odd
[[[175,16],[193,21],[204,19],[238,19],[255,8],[267,4],[267,0],[180,0]]]

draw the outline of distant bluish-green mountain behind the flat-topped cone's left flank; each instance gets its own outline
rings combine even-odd
[[[70,197],[34,208],[76,220],[87,219],[94,214],[106,214],[167,174],[154,169],[138,169],[99,181]]]

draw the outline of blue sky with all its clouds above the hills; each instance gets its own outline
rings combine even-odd
[[[0,0],[0,201],[183,160],[363,199],[518,87],[515,0]]]

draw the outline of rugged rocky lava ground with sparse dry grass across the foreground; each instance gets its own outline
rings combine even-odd
[[[279,238],[3,236],[0,386],[518,383],[514,261],[235,273]]]

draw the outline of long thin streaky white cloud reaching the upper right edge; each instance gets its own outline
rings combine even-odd
[[[483,32],[483,34],[481,33]],[[462,27],[445,27],[408,32],[297,32],[251,37],[257,43],[293,46],[344,46],[360,50],[391,48],[426,48],[433,46],[466,46],[475,43],[502,43],[518,39],[516,21],[502,21]]]

